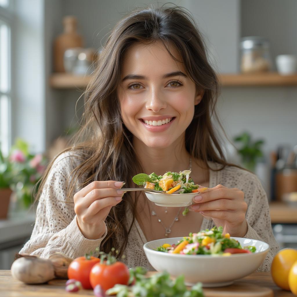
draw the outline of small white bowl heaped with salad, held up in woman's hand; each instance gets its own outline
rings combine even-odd
[[[192,204],[192,199],[198,193],[204,192],[207,187],[195,184],[190,176],[191,170],[180,172],[166,172],[163,175],[156,173],[139,173],[133,176],[135,184],[146,189],[160,191],[145,192],[146,197],[159,206],[181,207]]]

